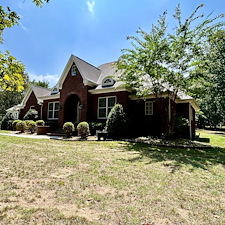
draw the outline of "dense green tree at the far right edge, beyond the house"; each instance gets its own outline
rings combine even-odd
[[[205,64],[208,69],[205,85],[194,84],[193,93],[202,111],[200,125],[215,128],[225,121],[225,30],[215,30],[206,47]]]

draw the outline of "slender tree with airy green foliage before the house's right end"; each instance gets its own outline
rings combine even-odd
[[[133,41],[133,48],[123,50],[117,63],[117,69],[123,71],[119,79],[126,88],[139,97],[155,94],[160,98],[162,93],[167,93],[175,101],[180,91],[189,91],[193,81],[204,78],[206,39],[216,28],[224,26],[224,22],[214,23],[224,15],[214,18],[210,18],[211,14],[197,15],[201,7],[182,21],[178,5],[173,15],[177,25],[172,33],[167,32],[165,12],[149,33],[139,29],[137,33],[141,37],[128,37]],[[196,25],[197,20],[200,23]],[[163,116],[162,122],[168,120]],[[175,116],[173,110],[166,137],[173,133]]]

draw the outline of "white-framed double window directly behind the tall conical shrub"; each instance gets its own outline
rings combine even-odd
[[[116,96],[101,97],[98,99],[98,118],[106,119],[110,110],[116,104]]]

